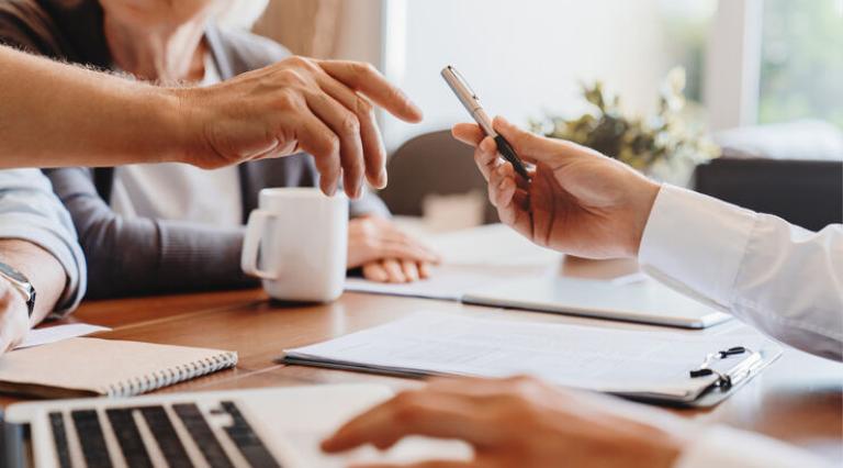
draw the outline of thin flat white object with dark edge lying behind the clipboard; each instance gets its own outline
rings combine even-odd
[[[559,276],[513,279],[468,291],[462,302],[682,328],[706,328],[730,319],[645,277],[631,282]]]

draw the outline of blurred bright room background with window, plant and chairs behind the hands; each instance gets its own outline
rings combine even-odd
[[[468,119],[448,64],[491,113],[652,177],[809,229],[843,218],[843,0],[243,1],[255,32],[372,63],[420,104],[420,125],[381,116],[383,197],[430,229],[494,221],[441,132]]]

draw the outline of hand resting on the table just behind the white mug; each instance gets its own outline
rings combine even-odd
[[[413,282],[430,276],[439,256],[383,218],[363,216],[348,223],[348,268],[363,267],[366,279]]]

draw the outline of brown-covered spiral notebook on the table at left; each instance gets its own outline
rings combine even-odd
[[[42,398],[131,397],[237,365],[237,353],[71,338],[0,357],[0,392]]]

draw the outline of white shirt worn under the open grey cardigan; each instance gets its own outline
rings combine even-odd
[[[220,81],[209,54],[201,86]],[[114,172],[111,208],[125,218],[238,226],[243,224],[239,170],[204,170],[180,163],[121,166]]]

